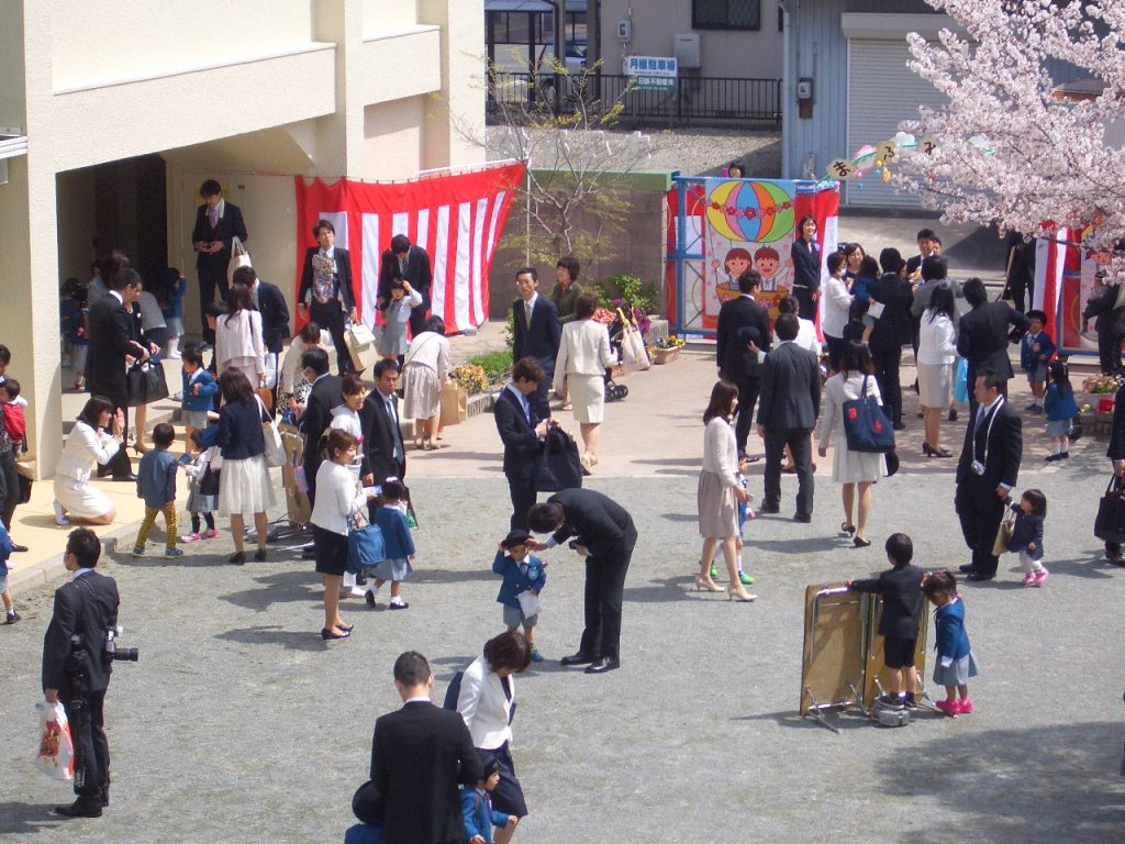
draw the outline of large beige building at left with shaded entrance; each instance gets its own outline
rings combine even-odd
[[[192,279],[196,195],[218,179],[245,215],[255,269],[291,304],[306,243],[292,177],[403,179],[483,161],[448,115],[484,122],[483,43],[483,0],[0,2],[0,127],[28,138],[0,183],[0,285],[19,305],[0,309],[0,342],[30,403],[40,473],[62,446],[60,280],[86,278],[104,200],[119,208],[116,228],[143,214],[133,183],[102,197],[109,162],[163,160],[168,262]],[[128,248],[127,232],[115,239],[100,249]]]

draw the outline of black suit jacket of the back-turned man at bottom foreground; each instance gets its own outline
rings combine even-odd
[[[371,781],[382,797],[386,844],[452,844],[465,835],[458,783],[484,778],[465,721],[429,701],[375,722]]]

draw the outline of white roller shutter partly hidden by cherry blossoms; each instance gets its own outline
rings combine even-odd
[[[875,146],[899,131],[902,120],[916,119],[919,106],[936,108],[946,98],[934,86],[907,68],[911,59],[906,41],[848,41],[847,152],[865,144]],[[917,208],[911,194],[898,194],[882,173],[864,173],[862,188],[847,186],[845,203],[856,206]]]

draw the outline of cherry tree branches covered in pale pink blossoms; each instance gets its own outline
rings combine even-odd
[[[902,125],[919,152],[901,160],[898,182],[946,222],[1040,236],[1084,227],[1087,248],[1113,250],[1125,237],[1125,151],[1106,128],[1125,119],[1125,2],[927,2],[963,32],[908,36],[911,70],[948,105]],[[1090,96],[1059,96],[1052,60],[1094,77]],[[1125,272],[1125,255],[1114,263]]]

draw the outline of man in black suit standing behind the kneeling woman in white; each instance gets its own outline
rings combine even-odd
[[[126,267],[111,279],[112,289],[98,299],[87,317],[90,345],[86,363],[90,395],[105,396],[124,414],[128,430],[128,389],[125,370],[134,360],[148,360],[151,349],[140,342],[134,331],[133,303],[141,296],[141,276]],[[125,449],[118,449],[105,470],[115,481],[136,481]],[[102,474],[99,470],[99,476]]]

